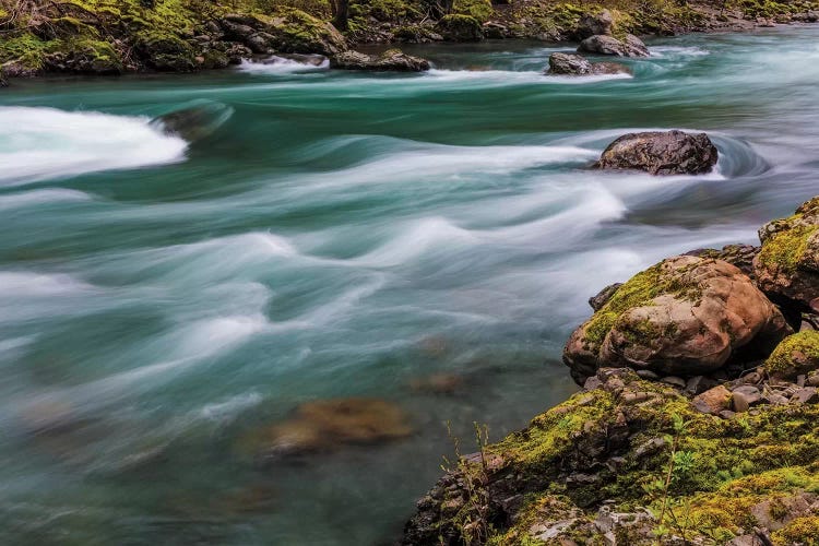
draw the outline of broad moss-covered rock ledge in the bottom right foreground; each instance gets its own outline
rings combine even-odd
[[[756,527],[810,544],[819,404],[724,419],[628,369],[595,379],[450,468],[402,543],[715,545]]]

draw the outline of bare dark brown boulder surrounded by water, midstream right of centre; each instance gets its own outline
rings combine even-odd
[[[606,147],[594,168],[644,170],[652,175],[699,175],[716,165],[705,133],[650,131],[624,134]]]

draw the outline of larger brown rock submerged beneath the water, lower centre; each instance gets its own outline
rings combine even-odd
[[[301,404],[289,420],[266,428],[245,443],[266,461],[337,449],[344,444],[378,443],[413,432],[408,416],[378,399],[337,399]]]

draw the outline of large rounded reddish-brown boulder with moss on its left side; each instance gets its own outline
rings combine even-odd
[[[600,367],[689,378],[732,356],[764,358],[788,333],[779,309],[737,268],[680,256],[620,286],[569,337],[563,363],[579,384]]]

